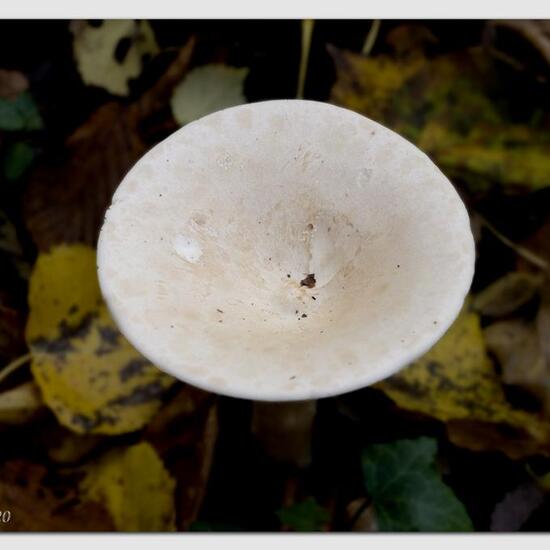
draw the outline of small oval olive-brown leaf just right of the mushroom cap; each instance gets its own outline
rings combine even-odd
[[[534,298],[541,283],[542,278],[532,273],[508,273],[477,294],[472,307],[487,317],[509,315]]]

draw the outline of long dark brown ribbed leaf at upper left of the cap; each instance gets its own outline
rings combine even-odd
[[[100,107],[69,137],[65,158],[34,171],[24,215],[41,251],[59,243],[95,245],[114,190],[148,147],[141,125],[168,104],[193,46],[190,39],[163,77],[129,107],[116,102]]]

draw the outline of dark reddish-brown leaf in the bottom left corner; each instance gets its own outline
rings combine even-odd
[[[101,506],[81,503],[71,483],[54,478],[39,464],[20,460],[2,465],[0,503],[11,515],[8,523],[0,522],[0,531],[114,530]]]

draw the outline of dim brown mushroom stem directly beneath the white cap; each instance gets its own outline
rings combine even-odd
[[[299,468],[311,462],[311,438],[317,401],[254,401],[252,433],[264,452]]]

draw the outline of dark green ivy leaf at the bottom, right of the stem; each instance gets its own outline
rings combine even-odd
[[[464,505],[435,468],[437,443],[421,437],[371,445],[363,475],[380,531],[472,531]]]

